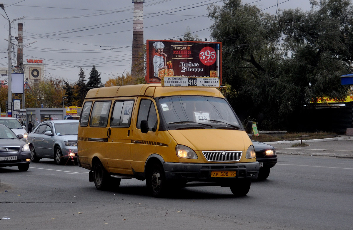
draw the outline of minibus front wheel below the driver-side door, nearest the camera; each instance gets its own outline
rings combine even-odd
[[[160,164],[154,163],[149,168],[146,176],[146,185],[152,196],[162,197],[167,193],[167,179]]]

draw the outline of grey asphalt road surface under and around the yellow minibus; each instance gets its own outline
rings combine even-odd
[[[351,229],[353,159],[278,155],[268,180],[248,195],[188,187],[169,198],[146,195],[145,181],[98,191],[88,170],[31,163],[0,168],[1,229]],[[5,190],[7,192],[5,192]]]

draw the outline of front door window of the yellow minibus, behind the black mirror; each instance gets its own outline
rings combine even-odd
[[[138,111],[136,127],[140,128],[141,121],[148,121],[148,130],[156,131],[157,128],[157,113],[154,104],[151,100],[142,99],[140,102],[140,108]]]

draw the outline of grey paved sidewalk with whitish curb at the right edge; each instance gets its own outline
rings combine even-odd
[[[334,144],[326,143],[326,141],[349,141],[348,148],[332,149]],[[265,142],[265,144],[272,145],[276,148],[276,154],[288,154],[288,155],[307,155],[307,156],[328,156],[328,157],[342,157],[342,158],[353,158],[353,136],[342,136],[335,138],[323,138],[313,140],[302,140],[303,143],[311,145],[311,147],[291,147],[295,143],[300,143],[300,140],[287,140],[287,141],[272,141]],[[322,145],[316,142],[325,142]],[[352,144],[351,144],[352,143]],[[316,145],[317,149],[312,149],[313,145]],[[352,146],[352,147],[350,147]],[[325,149],[325,147],[327,149]],[[324,149],[323,149],[324,148]]]

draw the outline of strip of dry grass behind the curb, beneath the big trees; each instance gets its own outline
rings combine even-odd
[[[281,137],[271,136],[268,134],[260,133],[258,137],[252,137],[252,140],[261,142],[282,141],[282,140],[312,140],[322,138],[339,137],[336,133],[329,132],[315,132],[315,133],[285,133]]]

